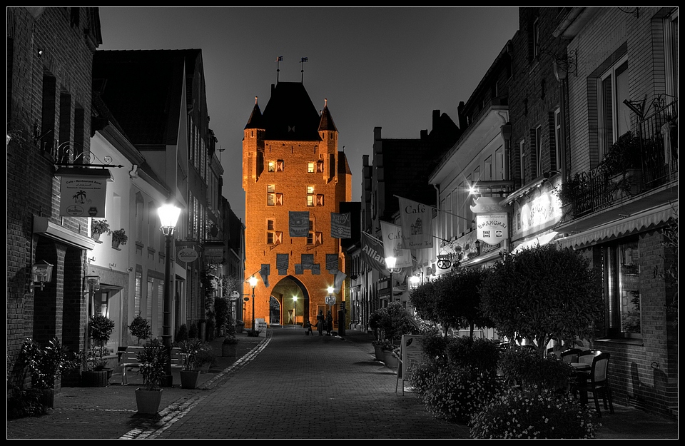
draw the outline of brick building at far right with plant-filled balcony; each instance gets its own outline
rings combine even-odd
[[[592,347],[611,353],[615,398],[677,410],[678,9],[572,8],[569,209],[555,230],[602,270]]]

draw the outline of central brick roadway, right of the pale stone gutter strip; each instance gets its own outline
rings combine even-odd
[[[315,332],[316,333],[316,332]],[[274,329],[268,345],[155,438],[467,438],[354,337]],[[401,385],[401,381],[400,381]]]

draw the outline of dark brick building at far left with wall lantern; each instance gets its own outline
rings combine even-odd
[[[88,216],[63,206],[73,197],[58,171],[88,170],[93,53],[101,43],[97,8],[7,9],[9,362],[26,338],[45,345],[56,337],[71,350],[86,340],[86,252],[95,242]]]

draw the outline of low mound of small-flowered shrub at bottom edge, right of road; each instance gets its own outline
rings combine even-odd
[[[593,438],[590,409],[549,390],[510,390],[471,419],[472,438]]]

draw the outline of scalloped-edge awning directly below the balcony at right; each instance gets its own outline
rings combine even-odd
[[[626,216],[620,220],[595,226],[582,233],[559,238],[557,243],[562,248],[582,248],[586,245],[601,243],[605,240],[618,238],[630,233],[645,230],[650,226],[669,221],[671,217],[678,217],[678,203],[666,203],[647,211]]]

